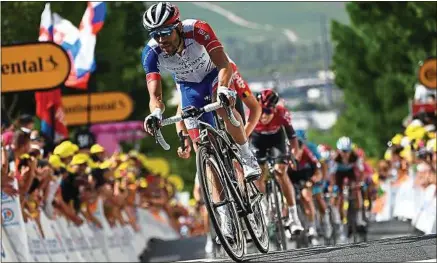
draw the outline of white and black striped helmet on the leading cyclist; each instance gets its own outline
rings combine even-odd
[[[152,30],[163,25],[172,25],[179,22],[179,8],[169,2],[159,2],[152,5],[143,14],[143,26]]]

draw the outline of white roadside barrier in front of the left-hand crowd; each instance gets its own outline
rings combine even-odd
[[[7,199],[3,197],[2,201]],[[158,222],[144,209],[137,211],[137,220],[141,226],[138,233],[130,225],[116,225],[111,228],[104,217],[102,200],[98,200],[94,215],[102,223],[102,229],[91,223],[77,227],[63,217],[52,220],[41,211],[40,222],[44,238],[35,221],[29,220],[25,223],[23,229],[28,249],[27,246],[18,248],[21,257],[27,253],[28,262],[139,262],[139,255],[146,248],[149,239],[179,238],[168,222]],[[17,248],[10,241],[7,230],[2,225],[1,261],[23,262],[17,257]]]

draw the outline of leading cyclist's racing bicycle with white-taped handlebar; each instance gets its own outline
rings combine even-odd
[[[243,225],[262,253],[269,250],[269,238],[260,204],[262,193],[253,181],[244,179],[240,147],[226,132],[223,120],[215,112],[213,115],[217,128],[199,120],[203,113],[223,108],[232,125],[240,125],[229,107],[229,100],[223,94],[219,96],[221,102],[210,103],[202,108],[184,108],[181,115],[169,117],[160,123],[154,121],[151,127],[157,143],[169,150],[170,146],[160,128],[184,119],[197,121],[199,137],[196,138],[196,166],[204,203],[220,244],[234,261],[241,261],[246,250]],[[215,190],[212,189],[214,187]],[[229,225],[231,235],[224,233],[223,216],[227,217],[226,224],[232,224]]]

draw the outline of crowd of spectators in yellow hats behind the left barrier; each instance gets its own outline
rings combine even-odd
[[[98,228],[97,201],[111,227],[130,225],[136,232],[137,209],[148,209],[181,236],[204,234],[196,202],[182,204],[179,176],[153,173],[149,158],[136,150],[108,154],[99,144],[79,148],[69,138],[49,142],[35,129],[34,117],[23,114],[15,122],[2,120],[2,196],[19,197],[24,222],[34,220],[44,236],[40,215],[64,217],[80,226]],[[3,218],[2,218],[3,223]]]

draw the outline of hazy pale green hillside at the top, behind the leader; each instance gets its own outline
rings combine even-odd
[[[246,41],[262,41],[269,38],[288,39],[294,33],[297,42],[306,43],[318,39],[321,17],[348,23],[344,2],[177,2],[182,18],[208,21],[220,38],[240,38]],[[223,8],[221,10],[220,8]],[[228,11],[231,22],[222,15]],[[249,23],[247,23],[249,22]],[[329,21],[327,21],[329,24]],[[245,26],[244,26],[245,25]],[[255,27],[255,28],[254,28]]]

